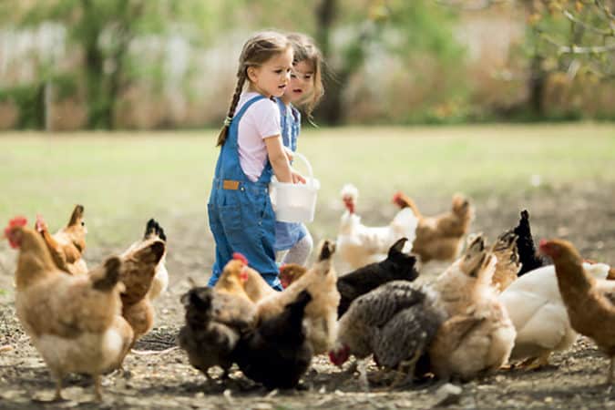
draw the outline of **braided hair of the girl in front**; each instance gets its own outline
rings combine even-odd
[[[276,31],[262,31],[251,36],[248,41],[245,42],[239,58],[235,93],[231,98],[231,107],[229,107],[229,111],[224,119],[224,126],[220,129],[216,147],[220,147],[224,144],[224,141],[226,141],[229,127],[231,126],[231,120],[235,115],[235,108],[237,108],[237,103],[241,96],[241,91],[243,90],[246,79],[250,81],[248,78],[248,67],[260,67],[263,63],[272,58],[272,56],[283,53],[291,46],[290,40]]]

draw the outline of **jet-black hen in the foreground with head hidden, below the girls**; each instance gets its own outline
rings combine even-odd
[[[312,363],[312,345],[302,323],[305,306],[311,301],[310,293],[302,291],[282,313],[241,336],[232,356],[243,374],[268,389],[299,384]]]

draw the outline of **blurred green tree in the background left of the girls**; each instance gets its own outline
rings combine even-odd
[[[190,37],[190,32],[186,33],[190,30],[182,23],[192,22],[191,29],[200,27],[204,32],[191,37],[202,41],[224,22],[216,17],[228,7],[222,0],[4,0],[2,6],[12,13],[0,18],[15,26],[57,22],[67,27],[69,41],[83,53],[88,128],[114,128],[122,92],[139,76],[159,72],[155,65],[146,66],[138,51],[130,52],[137,36],[182,31]],[[50,68],[50,76],[54,76]],[[41,83],[35,88],[43,87],[47,79],[48,76],[39,76]]]

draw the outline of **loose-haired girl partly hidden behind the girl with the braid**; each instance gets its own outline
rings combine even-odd
[[[321,64],[323,56],[313,40],[308,36],[293,33],[287,36],[292,42],[294,58],[292,61],[291,82],[282,97],[278,98],[282,125],[282,142],[289,160],[297,150],[297,138],[301,131],[301,114],[298,105],[311,118],[313,108],[323,97]],[[302,223],[275,222],[275,251],[287,251],[284,263],[305,265],[313,249],[312,235]]]

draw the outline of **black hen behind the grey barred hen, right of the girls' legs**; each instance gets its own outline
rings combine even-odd
[[[391,281],[414,281],[418,277],[415,256],[402,251],[405,241],[407,241],[405,238],[396,241],[384,261],[370,263],[337,279],[337,291],[341,296],[337,308],[338,319],[348,310],[354,299],[373,291],[381,284]]]

